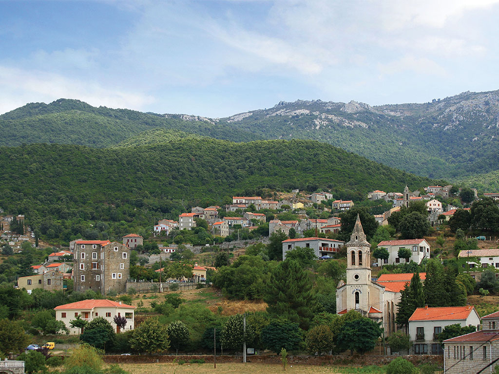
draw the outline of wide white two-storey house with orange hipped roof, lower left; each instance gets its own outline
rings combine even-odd
[[[74,320],[77,316],[84,321],[92,321],[94,318],[102,317],[106,319],[111,326],[119,332],[118,326],[114,323],[114,317],[125,317],[126,326],[125,330],[133,330],[135,327],[135,307],[127,304],[122,304],[120,302],[111,300],[82,300],[75,303],[59,305],[54,308],[55,319],[57,321],[64,322],[64,325],[69,329],[69,333],[72,335],[80,334],[81,331],[77,328],[73,328],[70,322]]]

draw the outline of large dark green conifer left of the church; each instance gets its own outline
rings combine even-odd
[[[270,315],[287,318],[302,329],[310,324],[316,306],[312,282],[296,261],[283,261],[272,271],[263,300]]]

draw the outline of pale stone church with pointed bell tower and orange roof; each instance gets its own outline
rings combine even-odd
[[[341,280],[336,288],[336,313],[356,310],[364,317],[382,322],[385,336],[397,331],[395,316],[401,291],[411,282],[413,274],[383,274],[371,278],[371,244],[367,241],[360,217],[357,215],[347,248],[346,283]],[[422,279],[425,273],[421,273]]]

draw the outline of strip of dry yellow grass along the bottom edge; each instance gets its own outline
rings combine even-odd
[[[131,374],[275,374],[296,373],[296,374],[339,374],[336,368],[329,366],[313,366],[313,365],[292,365],[287,367],[286,371],[278,364],[217,364],[217,369],[213,368],[213,364],[120,364],[120,366]]]

